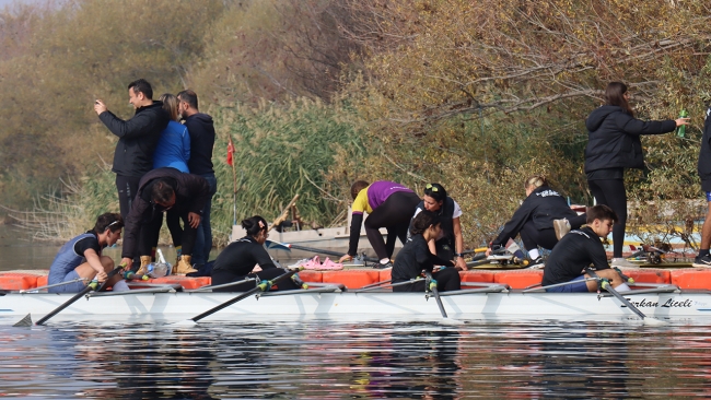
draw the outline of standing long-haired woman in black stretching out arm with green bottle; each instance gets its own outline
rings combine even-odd
[[[689,123],[689,118],[642,121],[634,118],[629,98],[626,84],[610,82],[605,90],[605,105],[593,110],[585,120],[585,174],[597,203],[609,205],[618,217],[613,228],[611,264],[636,268],[637,264],[622,258],[627,225],[625,168],[644,167],[640,136],[672,132],[676,127]]]

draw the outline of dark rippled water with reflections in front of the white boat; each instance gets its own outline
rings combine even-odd
[[[0,338],[4,397],[711,397],[711,326],[84,322]]]

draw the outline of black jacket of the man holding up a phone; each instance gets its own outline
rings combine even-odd
[[[127,121],[112,111],[104,111],[98,118],[118,137],[112,167],[116,175],[140,177],[153,169],[153,152],[171,120],[162,102],[137,109],[133,118]]]

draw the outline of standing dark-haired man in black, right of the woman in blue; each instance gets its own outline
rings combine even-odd
[[[212,211],[212,197],[218,191],[218,179],[212,168],[212,148],[214,146],[214,125],[212,117],[198,110],[198,95],[190,91],[177,94],[178,114],[185,119],[185,127],[190,134],[190,160],[188,168],[190,174],[203,177],[210,186],[210,197],[205,203],[202,219],[198,226],[193,261],[197,266],[208,262],[212,249],[212,226],[210,212]]]

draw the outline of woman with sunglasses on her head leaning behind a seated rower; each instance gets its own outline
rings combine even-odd
[[[459,208],[459,204],[447,196],[442,185],[428,184],[424,187],[422,201],[415,209],[412,221],[424,210],[435,213],[442,223],[440,236],[428,243],[430,251],[444,260],[454,259],[456,269],[466,271],[467,263],[464,261],[464,255],[462,254],[464,250],[464,237],[462,236],[462,224],[459,223],[459,216],[462,216],[462,208]],[[411,231],[412,222],[410,221]]]

